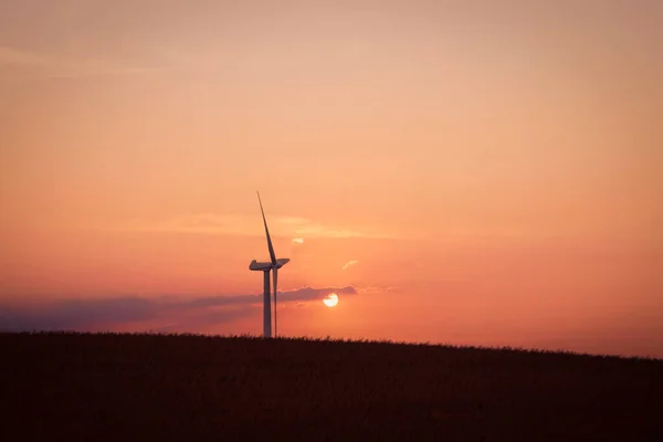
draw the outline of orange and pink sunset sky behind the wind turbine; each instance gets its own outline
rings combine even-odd
[[[663,357],[663,3],[0,1],[0,329]],[[338,294],[336,307],[322,299]]]

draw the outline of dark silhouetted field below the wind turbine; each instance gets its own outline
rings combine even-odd
[[[0,334],[0,440],[663,440],[663,360]]]

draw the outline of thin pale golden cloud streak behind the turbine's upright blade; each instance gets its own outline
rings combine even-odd
[[[304,238],[393,238],[380,232],[365,232],[346,227],[328,225],[301,218],[277,215],[267,220],[270,233],[277,238],[295,238],[294,243],[303,243]],[[161,220],[134,219],[103,228],[145,232],[182,232],[207,234],[231,234],[245,236],[263,235],[262,220],[256,217],[218,213],[187,213]]]

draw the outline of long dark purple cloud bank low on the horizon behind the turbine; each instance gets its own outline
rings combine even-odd
[[[307,301],[322,299],[333,292],[338,295],[358,293],[352,286],[302,287],[278,292],[278,301],[298,305]],[[148,320],[176,324],[166,328],[177,328],[178,325],[200,327],[232,323],[260,312],[259,306],[262,308],[262,294],[206,296],[192,299],[172,296],[60,299],[44,302],[39,307],[0,304],[0,332],[64,329],[84,332]]]

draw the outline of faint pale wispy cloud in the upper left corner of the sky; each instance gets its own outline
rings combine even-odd
[[[133,75],[156,71],[156,67],[135,66],[126,61],[105,59],[67,59],[51,54],[0,46],[0,72],[19,69],[39,77],[76,78],[104,75]]]

